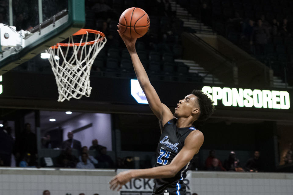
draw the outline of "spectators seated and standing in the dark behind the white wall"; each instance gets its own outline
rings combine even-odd
[[[92,146],[81,147],[81,142],[73,139],[72,132],[67,133],[68,139],[60,143],[61,153],[56,158],[40,157],[38,164],[37,138],[31,131],[31,125],[25,124],[24,130],[14,139],[11,136],[12,129],[7,121],[3,121],[0,127],[0,165],[11,166],[12,154],[16,161],[16,166],[20,167],[63,167],[63,168],[135,168],[134,157],[116,158],[116,162],[107,155],[107,147],[98,144],[97,139],[92,140]],[[42,148],[54,149],[56,146],[51,142],[51,136],[46,133],[41,139]],[[73,151],[75,153],[73,154]],[[157,158],[154,155],[154,159]],[[283,156],[285,164],[292,164],[292,144]],[[150,166],[154,166],[155,161],[150,159]],[[245,164],[240,164],[236,153],[231,151],[228,158],[222,163],[216,155],[215,150],[209,152],[208,158],[204,162],[204,167],[191,165],[192,170],[207,171],[236,171],[236,172],[259,172],[263,170],[263,162],[260,152],[254,151],[252,158]]]

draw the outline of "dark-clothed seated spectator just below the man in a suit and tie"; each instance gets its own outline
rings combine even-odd
[[[57,167],[67,167],[74,168],[76,163],[78,162],[78,158],[72,155],[72,148],[67,147],[64,152],[62,152],[56,160]]]

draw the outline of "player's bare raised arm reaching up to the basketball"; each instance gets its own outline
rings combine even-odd
[[[136,53],[136,48],[135,48],[136,39],[126,37],[125,35],[121,34],[119,30],[117,31],[120,37],[122,38],[122,40],[124,41],[126,48],[129,51],[137,80],[139,81],[140,87],[143,89],[143,92],[146,95],[150,108],[152,109],[154,114],[157,116],[157,118],[160,121],[162,121],[162,124],[165,125],[165,123],[173,119],[174,116],[172,112],[170,111],[170,109],[166,105],[161,103],[161,100],[156,90],[150,83],[149,77],[147,76],[147,72],[145,71]]]

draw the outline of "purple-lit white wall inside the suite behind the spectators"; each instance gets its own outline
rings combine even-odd
[[[63,129],[63,140],[67,140],[67,133],[80,127],[89,125],[92,127],[74,133],[73,139],[79,140],[81,146],[90,147],[92,140],[97,139],[99,144],[107,147],[108,151],[112,151],[111,137],[111,115],[103,113],[86,113],[79,115],[61,125]]]

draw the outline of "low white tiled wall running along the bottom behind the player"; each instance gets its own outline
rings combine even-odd
[[[0,194],[118,195],[109,189],[114,175],[114,169],[0,168]],[[293,174],[194,171],[189,186],[198,195],[292,195]]]

